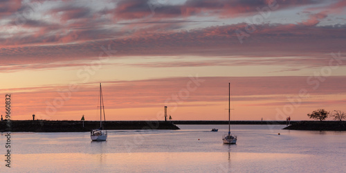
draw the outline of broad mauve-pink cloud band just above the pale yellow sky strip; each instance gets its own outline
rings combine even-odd
[[[314,15],[316,19],[324,15]],[[140,25],[140,24],[138,24]],[[42,34],[21,37],[17,35],[8,39],[0,39],[5,43],[0,49],[1,57],[6,57],[6,64],[38,64],[46,62],[63,62],[67,60],[95,59],[102,53],[102,46],[111,46],[116,56],[131,55],[199,55],[208,57],[245,56],[245,57],[300,57],[294,58],[298,64],[306,66],[321,66],[328,61],[331,52],[345,50],[343,37],[346,37],[344,26],[305,26],[293,24],[263,24],[255,25],[256,30],[249,37],[244,37],[240,44],[236,30],[244,30],[247,24],[229,26],[212,26],[188,31],[172,32],[155,26],[148,30],[134,30],[131,35],[116,39],[102,39],[108,30],[78,29],[65,35]],[[48,27],[55,27],[49,26]],[[167,28],[172,25],[167,24]],[[159,33],[155,33],[160,30]],[[113,31],[110,33],[112,34]],[[126,32],[125,30],[122,32]],[[244,30],[245,32],[245,30]],[[98,39],[101,38],[101,39]],[[97,39],[97,40],[95,40]],[[95,40],[95,41],[93,41]],[[28,46],[6,45],[12,42]],[[53,43],[71,43],[57,44]],[[328,42],[328,44],[321,44]],[[33,46],[29,46],[33,44]],[[39,44],[39,46],[36,46]],[[49,45],[44,45],[49,44]],[[251,51],[249,51],[251,50]],[[270,50],[270,51],[268,51]],[[310,57],[310,58],[301,58]],[[323,57],[322,59],[320,57]],[[229,62],[230,64],[266,63]],[[289,59],[268,60],[273,64],[292,64]],[[217,62],[215,62],[217,63]],[[211,64],[215,64],[211,63]],[[181,63],[180,63],[181,64]],[[191,64],[191,63],[190,63]],[[194,66],[206,62],[194,62]],[[147,64],[148,66],[155,64]],[[179,65],[176,64],[176,65]],[[208,63],[207,63],[208,65]],[[295,64],[292,64],[293,66]],[[160,66],[160,64],[158,64]]]

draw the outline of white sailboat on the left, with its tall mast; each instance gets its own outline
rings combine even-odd
[[[103,125],[102,125],[102,110],[103,110],[103,117],[104,117],[104,121],[105,121],[106,116],[104,115],[104,104],[103,104],[102,88],[101,88],[101,83],[100,83],[100,128],[99,129],[93,129],[91,131],[90,138],[93,141],[107,140],[107,130],[104,130]]]

